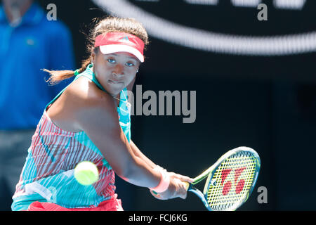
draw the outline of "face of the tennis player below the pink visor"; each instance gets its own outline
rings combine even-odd
[[[112,95],[117,95],[136,76],[140,61],[127,52],[93,53],[93,72],[98,82]]]

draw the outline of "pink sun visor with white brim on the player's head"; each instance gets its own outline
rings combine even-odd
[[[100,47],[103,54],[125,51],[144,62],[144,42],[133,34],[108,32],[96,37],[95,47]]]

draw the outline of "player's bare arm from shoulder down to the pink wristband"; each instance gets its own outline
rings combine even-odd
[[[137,186],[157,186],[161,174],[154,171],[131,150],[119,126],[113,98],[109,95],[100,95],[81,102],[81,107],[74,111],[77,124],[103,153],[117,175]]]

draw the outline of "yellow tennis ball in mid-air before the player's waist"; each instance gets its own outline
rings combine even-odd
[[[77,179],[79,184],[91,185],[99,179],[98,168],[93,162],[79,162],[74,168],[74,178]]]

